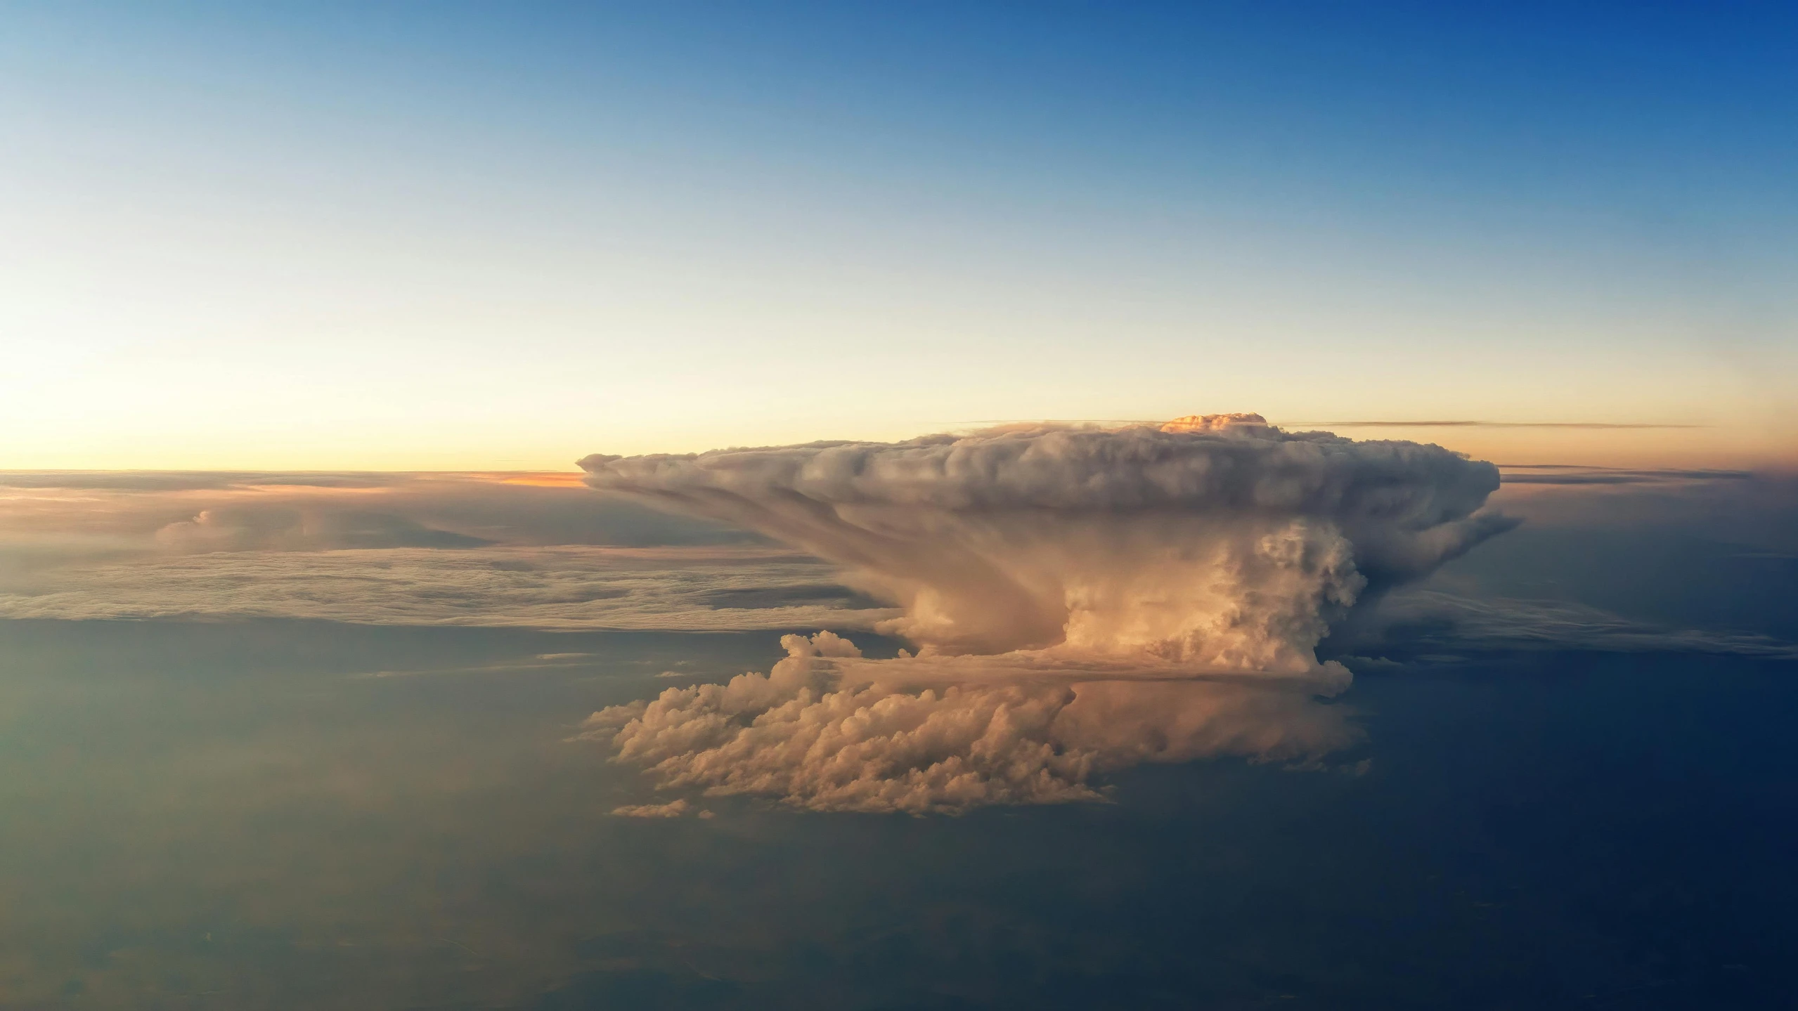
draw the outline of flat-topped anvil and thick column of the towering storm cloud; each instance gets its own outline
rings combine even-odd
[[[1170,426],[1172,427],[1172,426]],[[1498,469],[1435,445],[1206,429],[1007,427],[588,456],[595,488],[746,526],[849,569],[926,650],[1072,643],[1237,670],[1307,666],[1368,580],[1505,528]]]

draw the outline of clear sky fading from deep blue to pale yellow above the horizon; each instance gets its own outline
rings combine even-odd
[[[1793,462],[1793,52],[1791,4],[7,5],[0,467],[1192,411]]]

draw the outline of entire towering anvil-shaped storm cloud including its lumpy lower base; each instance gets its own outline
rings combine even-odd
[[[768,675],[595,713],[662,787],[831,810],[1091,799],[1095,772],[1352,740],[1318,639],[1509,526],[1498,469],[1259,415],[588,456],[595,488],[746,526],[903,609],[915,655],[789,637]]]

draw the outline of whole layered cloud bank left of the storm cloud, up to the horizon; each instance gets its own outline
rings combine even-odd
[[[859,629],[829,566],[572,474],[0,472],[0,616]]]

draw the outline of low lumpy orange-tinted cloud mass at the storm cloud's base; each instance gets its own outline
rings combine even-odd
[[[863,661],[831,632],[782,645],[766,675],[613,706],[581,736],[613,743],[662,788],[908,813],[1095,801],[1097,772],[1138,761],[1305,763],[1356,740],[1343,709],[1313,697],[1340,681],[1106,679],[1054,655],[944,670],[937,657]]]

